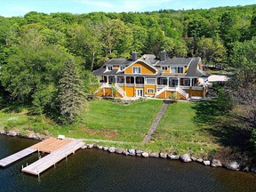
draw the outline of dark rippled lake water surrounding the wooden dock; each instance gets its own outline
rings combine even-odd
[[[0,159],[37,140],[0,135]],[[0,191],[256,191],[256,176],[202,164],[80,149],[36,176],[21,172],[37,154],[0,168]]]

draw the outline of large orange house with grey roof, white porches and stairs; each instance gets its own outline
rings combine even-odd
[[[173,95],[188,100],[204,98],[207,74],[203,71],[201,58],[169,58],[161,52],[160,58],[144,54],[132,59],[110,59],[92,72],[100,81],[97,96],[155,97],[167,99]]]

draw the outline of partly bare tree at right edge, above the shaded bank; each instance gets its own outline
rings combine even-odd
[[[250,128],[256,128],[256,37],[234,44],[230,62],[234,75],[229,88],[234,100],[243,108]]]

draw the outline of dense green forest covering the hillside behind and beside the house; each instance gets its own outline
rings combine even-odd
[[[255,48],[255,4],[187,11],[28,12],[24,17],[0,17],[0,104],[18,102],[35,114],[61,112],[64,118],[74,117],[68,110],[76,111],[81,104],[77,100],[97,88],[93,69],[109,58],[130,58],[132,51],[158,56],[165,50],[170,57],[199,56],[206,67],[218,64],[231,72],[226,93],[243,107],[252,130],[256,122]],[[65,91],[69,85],[77,95]],[[78,97],[74,108],[68,108],[70,103],[60,105],[68,102],[65,95]],[[73,117],[71,121],[75,121]]]

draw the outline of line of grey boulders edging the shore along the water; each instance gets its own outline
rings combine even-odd
[[[27,139],[33,139],[33,140],[45,140],[51,136],[49,135],[42,135],[42,134],[36,134],[35,132],[30,132],[28,134],[22,135],[20,132],[5,132],[1,131],[0,134],[6,135],[6,136],[12,136],[12,137],[20,137],[20,138],[27,138]],[[162,152],[157,153],[148,153],[146,151],[140,150],[140,149],[134,149],[134,148],[115,148],[115,147],[107,147],[107,146],[101,146],[95,143],[85,143],[87,142],[86,139],[74,139],[74,138],[68,138],[70,140],[81,140],[84,142],[84,147],[82,149],[92,149],[97,148],[103,151],[106,151],[108,153],[115,153],[119,155],[124,156],[140,156],[143,158],[148,157],[155,157],[160,159],[170,159],[170,160],[180,160],[180,162],[183,163],[189,163],[189,162],[196,162],[199,164],[203,164],[204,166],[211,166],[211,167],[223,167],[231,171],[241,171],[241,172],[248,172],[248,173],[256,173],[256,166],[253,164],[244,165],[239,164],[236,161],[232,161],[229,163],[222,163],[219,159],[210,159],[208,157],[196,157],[191,156],[190,154],[183,154],[179,155],[176,153],[167,154]]]

